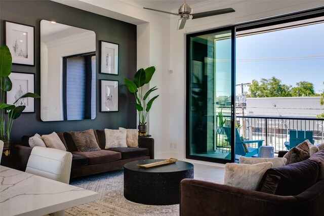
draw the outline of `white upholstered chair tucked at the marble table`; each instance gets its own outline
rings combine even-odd
[[[34,147],[27,162],[26,172],[69,184],[72,154],[59,149]],[[64,215],[64,210],[50,215]]]

